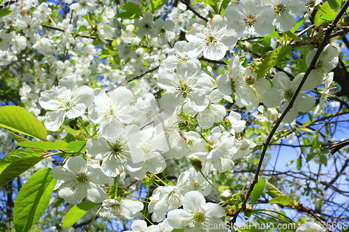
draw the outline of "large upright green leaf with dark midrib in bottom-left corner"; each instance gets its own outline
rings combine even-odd
[[[57,183],[51,172],[51,168],[37,171],[18,193],[13,208],[13,222],[17,232],[29,231],[45,212]]]

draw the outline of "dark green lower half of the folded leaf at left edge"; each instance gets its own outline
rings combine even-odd
[[[37,156],[29,156],[10,163],[1,172],[0,187],[3,187],[3,185],[6,185],[17,176],[20,176],[20,174],[24,173],[24,171],[27,171],[31,167],[34,167],[34,165],[40,162],[40,160],[43,160],[43,158]]]

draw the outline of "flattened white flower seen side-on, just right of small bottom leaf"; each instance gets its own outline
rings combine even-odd
[[[115,199],[106,199],[102,203],[103,208],[99,215],[101,217],[117,218],[124,217],[133,219],[143,210],[144,205],[140,201],[122,199],[120,202]]]

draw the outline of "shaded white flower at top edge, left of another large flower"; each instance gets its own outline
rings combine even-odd
[[[256,33],[267,36],[273,32],[273,7],[261,6],[260,0],[241,0],[239,4],[230,4],[225,9],[228,27],[237,31],[239,38]]]

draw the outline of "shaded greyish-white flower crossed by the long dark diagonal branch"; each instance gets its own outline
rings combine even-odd
[[[262,100],[264,104],[268,108],[282,105],[281,111],[284,111],[303,77],[304,73],[300,73],[291,82],[284,72],[277,72],[273,78],[274,88],[268,89],[262,93]],[[290,109],[288,114],[285,115],[285,118],[283,118],[284,123],[291,123],[293,120],[295,120],[295,118],[297,118],[298,111],[309,112],[311,109],[313,109],[313,106],[315,105],[315,98],[304,93],[304,88],[306,88],[306,86],[302,86],[302,89],[298,93],[292,109]]]

